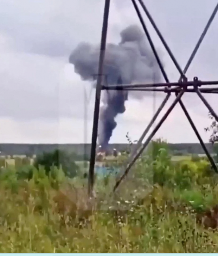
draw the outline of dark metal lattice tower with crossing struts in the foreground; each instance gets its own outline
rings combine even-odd
[[[186,115],[192,129],[194,130],[194,133],[196,134],[203,150],[205,151],[205,154],[206,154],[207,158],[209,159],[212,168],[214,169],[215,172],[218,173],[217,166],[214,163],[213,158],[211,157],[210,153],[208,152],[200,134],[198,133],[197,128],[195,127],[195,124],[192,121],[192,118],[188,114],[188,111],[187,111],[185,105],[183,104],[183,102],[181,100],[184,93],[196,93],[198,95],[198,97],[201,99],[201,101],[204,103],[206,108],[209,110],[211,115],[214,117],[214,119],[218,122],[218,115],[214,112],[211,105],[207,102],[207,100],[203,96],[204,93],[218,93],[218,81],[200,81],[200,80],[198,80],[198,77],[194,77],[194,79],[192,81],[188,81],[188,79],[185,75],[188,68],[190,67],[190,64],[191,64],[192,60],[194,59],[194,57],[195,57],[195,55],[196,55],[196,53],[197,53],[197,51],[200,47],[201,42],[203,41],[208,29],[210,28],[210,25],[211,25],[213,19],[214,19],[215,15],[218,11],[218,3],[216,5],[216,7],[214,8],[214,11],[212,12],[211,17],[210,17],[209,21],[207,22],[207,24],[206,24],[198,42],[197,42],[197,44],[195,45],[195,48],[194,48],[190,58],[188,59],[184,70],[182,70],[179,63],[175,59],[171,49],[169,48],[168,44],[166,43],[164,37],[162,36],[161,32],[159,31],[158,27],[156,26],[156,24],[154,22],[154,19],[150,15],[150,13],[149,13],[146,5],[144,4],[144,2],[142,0],[131,0],[131,1],[132,1],[132,4],[133,4],[133,7],[134,7],[134,9],[137,13],[137,16],[139,17],[141,26],[142,26],[142,28],[145,32],[145,35],[148,39],[150,47],[152,48],[152,51],[153,51],[154,56],[156,58],[156,61],[159,65],[161,73],[164,77],[165,83],[128,84],[128,85],[114,85],[114,86],[107,86],[107,85],[103,84],[104,83],[103,63],[104,63],[104,55],[105,55],[105,47],[106,47],[106,39],[107,39],[107,29],[108,29],[108,17],[109,17],[109,9],[110,9],[110,0],[105,0],[103,26],[102,26],[102,36],[101,36],[101,50],[100,50],[100,57],[99,57],[98,76],[97,76],[96,95],[95,95],[95,109],[94,109],[94,120],[93,120],[93,129],[92,129],[90,165],[89,165],[89,195],[90,196],[92,196],[92,191],[93,191],[93,187],[94,187],[94,170],[95,170],[95,158],[96,158],[96,145],[97,145],[98,118],[99,118],[99,111],[100,111],[101,90],[128,90],[128,91],[147,91],[147,92],[156,91],[156,92],[166,93],[165,99],[163,100],[163,102],[159,106],[158,110],[155,112],[152,120],[150,121],[147,128],[145,129],[145,131],[141,135],[140,139],[138,140],[137,144],[133,148],[133,151],[131,152],[130,157],[129,157],[126,165],[124,165],[124,167],[125,167],[124,168],[124,173],[120,177],[120,179],[118,179],[118,181],[116,182],[116,184],[114,186],[114,191],[120,185],[122,180],[126,177],[126,175],[128,174],[129,170],[131,169],[131,167],[133,166],[135,161],[140,157],[143,150],[148,146],[149,142],[153,139],[156,132],[158,132],[162,123],[164,123],[164,121],[167,119],[168,115],[171,113],[171,111],[173,110],[175,105],[177,105],[178,103],[181,106],[184,114]],[[172,83],[172,82],[169,81],[169,79],[167,77],[167,74],[164,70],[164,67],[161,63],[161,60],[159,58],[159,55],[158,55],[158,53],[155,49],[152,38],[150,37],[147,26],[146,26],[146,24],[145,24],[145,22],[142,18],[142,15],[140,13],[138,5],[141,5],[143,11],[146,13],[149,22],[152,24],[155,32],[159,36],[159,38],[160,38],[162,44],[164,45],[167,53],[171,57],[175,67],[179,71],[180,78],[179,78],[178,82],[173,82]],[[209,85],[216,85],[216,86],[208,87]],[[142,144],[143,139],[145,138],[149,129],[152,127],[155,120],[159,116],[161,110],[166,105],[166,103],[167,103],[167,101],[170,98],[172,93],[175,93],[176,98],[174,99],[173,103],[169,106],[169,108],[167,109],[167,111],[165,112],[165,114],[163,115],[161,120],[156,124],[153,131],[151,132],[151,134],[146,139],[146,141]]]

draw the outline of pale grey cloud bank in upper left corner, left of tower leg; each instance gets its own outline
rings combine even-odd
[[[89,34],[98,40],[100,8],[99,0],[0,0],[0,32],[14,39],[17,50],[68,56],[77,40]]]

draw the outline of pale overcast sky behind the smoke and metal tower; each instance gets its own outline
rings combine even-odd
[[[217,0],[144,0],[172,52],[183,68]],[[83,143],[91,140],[95,90],[81,81],[68,63],[81,41],[98,44],[103,0],[0,0],[0,143]],[[145,20],[146,17],[145,17]],[[108,42],[118,42],[120,31],[139,24],[130,0],[113,0]],[[188,78],[218,80],[218,15],[201,45]],[[158,37],[149,25],[171,81],[179,78]],[[90,96],[84,129],[84,91]],[[205,96],[206,97],[206,96]],[[137,140],[164,95],[126,102],[117,116],[111,142],[126,142],[129,132]],[[218,111],[218,96],[206,97]],[[167,106],[172,102],[169,100]],[[194,95],[184,96],[193,121],[204,132],[210,120],[207,109]],[[164,111],[164,110],[163,110]],[[168,142],[197,142],[180,107],[176,107],[156,137]]]

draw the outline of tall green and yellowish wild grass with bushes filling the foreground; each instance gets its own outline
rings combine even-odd
[[[115,194],[114,175],[96,177],[95,199],[61,168],[2,168],[0,252],[217,252],[216,230],[196,223],[218,202],[217,176],[206,160],[175,162],[153,146]]]

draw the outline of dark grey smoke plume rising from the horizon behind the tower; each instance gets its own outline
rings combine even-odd
[[[119,44],[108,43],[104,59],[107,84],[158,83],[161,73],[146,37],[136,25],[130,25],[120,33]],[[83,80],[96,80],[100,47],[80,43],[72,52],[69,62]],[[129,92],[129,96],[142,98],[141,92]],[[125,111],[127,91],[103,91],[98,126],[98,144],[107,149],[116,127],[115,117]]]

